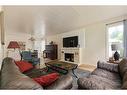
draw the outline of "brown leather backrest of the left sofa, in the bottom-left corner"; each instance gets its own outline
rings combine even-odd
[[[22,74],[12,58],[5,58],[1,69],[1,89],[35,90],[43,87],[33,79]]]

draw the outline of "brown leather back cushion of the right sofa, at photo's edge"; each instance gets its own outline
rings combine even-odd
[[[123,78],[125,72],[127,71],[127,58],[122,59],[118,65],[120,76]]]

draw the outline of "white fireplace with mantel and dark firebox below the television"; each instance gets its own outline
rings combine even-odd
[[[62,48],[61,61],[80,64],[80,48]]]

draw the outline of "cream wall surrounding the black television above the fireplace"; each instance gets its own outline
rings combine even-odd
[[[84,28],[46,37],[47,44],[53,41],[58,45],[58,59],[61,58],[61,48],[63,46],[63,38],[70,37],[70,36],[78,36],[79,37],[78,43],[80,45],[80,48],[82,49],[85,48],[85,29]]]

